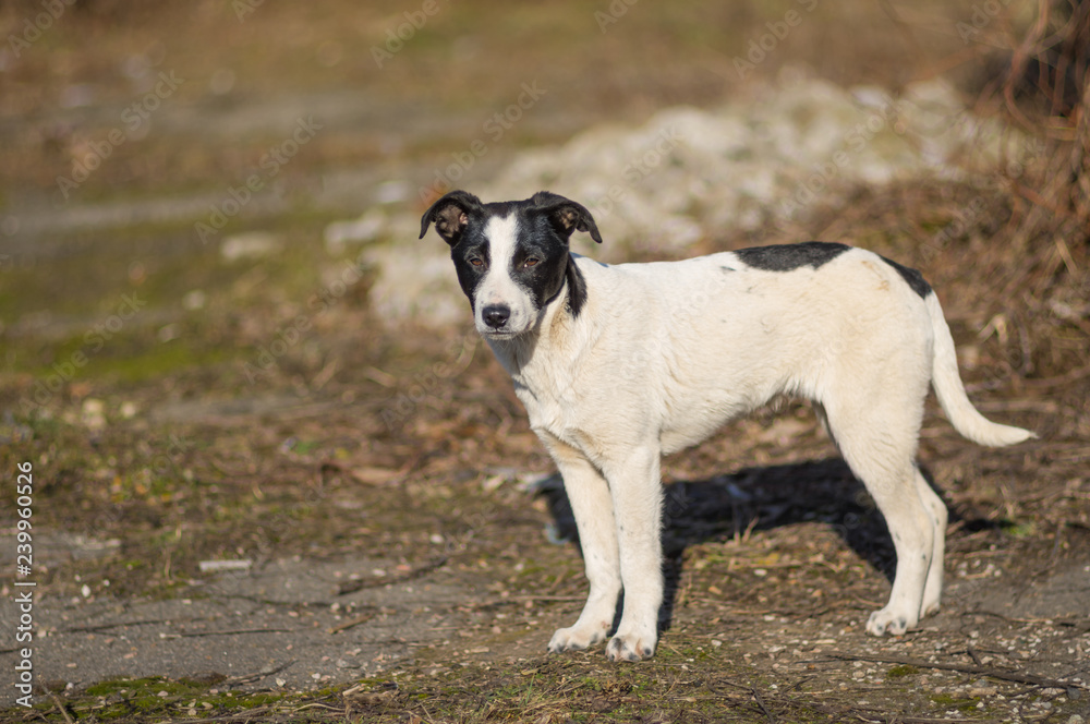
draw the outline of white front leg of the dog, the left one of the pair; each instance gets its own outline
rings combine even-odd
[[[574,448],[543,435],[564,478],[564,488],[579,527],[590,594],[573,626],[558,629],[548,643],[553,653],[582,650],[603,641],[613,625],[620,595],[620,563],[609,485]]]

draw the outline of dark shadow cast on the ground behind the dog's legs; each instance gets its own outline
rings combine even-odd
[[[924,476],[931,480],[925,471]],[[560,476],[549,478],[537,490],[547,498],[553,515],[549,539],[578,542]],[[885,520],[840,458],[747,468],[666,485],[662,532],[666,591],[659,626],[669,627],[687,547],[800,522],[829,526],[861,558],[893,580],[896,553]]]

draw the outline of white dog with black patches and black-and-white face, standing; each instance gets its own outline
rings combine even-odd
[[[814,402],[885,516],[897,570],[867,623],[875,636],[904,634],[942,594],[946,507],[915,459],[929,384],[969,439],[1032,436],[972,407],[923,277],[862,249],[808,242],[610,266],[570,253],[573,231],[602,237],[586,208],[545,191],[491,204],[452,191],[424,214],[421,238],[431,224],[576,515],[590,595],[549,651],[602,641],[623,589],[606,653],[654,654],[659,458],[776,395]]]

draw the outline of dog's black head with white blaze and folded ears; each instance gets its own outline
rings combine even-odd
[[[579,230],[602,243],[594,218],[582,205],[547,191],[494,204],[451,191],[421,218],[421,239],[432,224],[450,244],[458,282],[485,337],[510,338],[533,329],[566,283],[567,304],[579,314],[586,291],[568,240]]]

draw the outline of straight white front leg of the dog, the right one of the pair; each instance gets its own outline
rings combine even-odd
[[[656,447],[626,450],[605,470],[613,493],[625,611],[606,655],[640,661],[655,653],[658,608],[663,603],[661,452]]]

